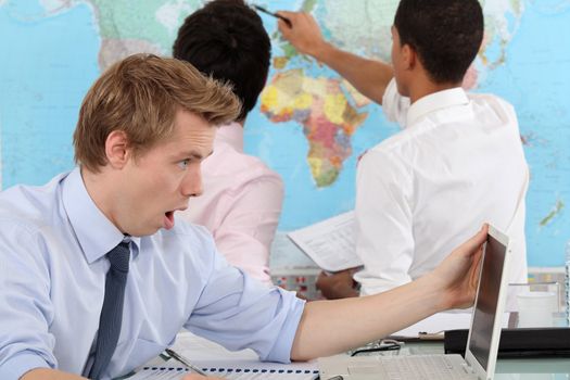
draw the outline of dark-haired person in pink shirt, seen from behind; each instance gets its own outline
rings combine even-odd
[[[204,162],[207,191],[190,200],[181,217],[205,226],[230,264],[268,286],[283,182],[243,152],[243,127],[265,86],[270,53],[262,20],[242,0],[214,0],[190,14],[173,47],[174,58],[228,83],[242,103],[238,118],[218,129],[214,153]]]

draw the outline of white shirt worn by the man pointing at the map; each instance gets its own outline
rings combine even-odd
[[[404,130],[358,164],[356,252],[365,267],[355,279],[362,294],[421,277],[485,221],[514,239],[510,282],[525,282],[528,166],[512,106],[461,88],[409,105],[392,80],[383,110]]]

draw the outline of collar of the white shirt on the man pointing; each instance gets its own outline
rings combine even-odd
[[[408,110],[406,126],[411,127],[422,116],[454,105],[465,105],[469,98],[460,87],[438,91],[414,102]]]

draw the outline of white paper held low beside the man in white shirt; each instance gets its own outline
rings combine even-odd
[[[352,211],[291,231],[288,236],[327,271],[339,271],[363,265],[355,252]]]

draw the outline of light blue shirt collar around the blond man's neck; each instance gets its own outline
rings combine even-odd
[[[63,205],[67,217],[85,258],[91,264],[121,243],[125,236],[89,197],[78,167],[69,173],[62,186]],[[140,246],[140,238],[131,237],[130,240],[137,248]],[[138,249],[132,251],[138,252]]]

